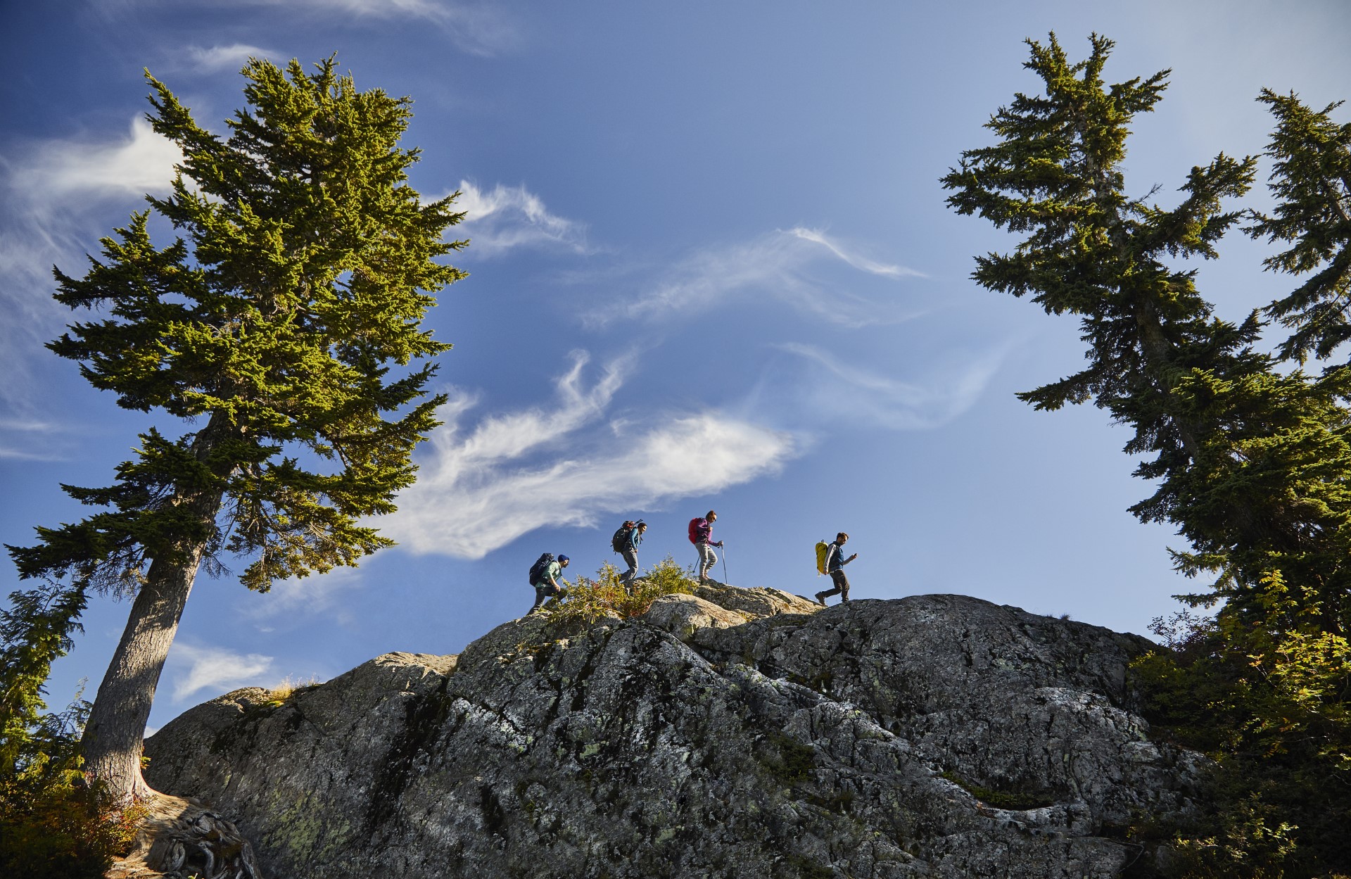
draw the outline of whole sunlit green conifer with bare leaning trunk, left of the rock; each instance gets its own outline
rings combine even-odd
[[[134,597],[82,743],[122,802],[150,794],[142,733],[203,563],[240,556],[240,581],[266,591],[390,545],[362,520],[394,509],[438,424],[435,366],[413,362],[450,347],[420,321],[462,277],[438,258],[465,244],[443,240],[454,196],[423,204],[408,185],[411,101],[357,90],[332,58],[313,73],[250,61],[228,136],[146,76],[150,123],[184,161],[82,278],[55,273],[57,300],[96,316],[49,347],[119,405],[168,419],[112,486],[62,486],[99,512],[9,547],[24,578]],[[151,212],[182,238],[157,248]],[[32,621],[51,647],[73,625]]]

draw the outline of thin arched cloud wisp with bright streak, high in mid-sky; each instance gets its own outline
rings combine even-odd
[[[617,317],[655,321],[753,296],[774,297],[847,328],[900,323],[915,316],[915,309],[902,302],[861,296],[838,278],[823,275],[823,270],[840,263],[889,281],[925,277],[907,266],[862,257],[820,230],[794,227],[690,254],[665,270],[661,282],[640,286],[617,307],[597,309],[588,323],[604,325]]]

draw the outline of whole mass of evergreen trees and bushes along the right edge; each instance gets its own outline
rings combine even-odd
[[[1325,876],[1351,871],[1351,367],[1305,371],[1351,340],[1351,124],[1296,95],[1263,90],[1275,117],[1270,215],[1224,209],[1256,158],[1196,166],[1173,207],[1125,192],[1135,115],[1169,72],[1102,80],[1112,42],[1070,62],[1054,34],[1028,41],[1043,95],[1016,95],[988,123],[996,143],[962,154],[948,204],[1024,238],[977,258],[974,278],[1079,317],[1081,371],[1020,394],[1038,409],[1093,402],[1135,428],[1125,451],[1151,497],[1131,508],[1188,541],[1189,577],[1213,579],[1192,606],[1213,617],[1159,621],[1166,652],[1136,679],[1159,729],[1216,757],[1212,810],[1175,828],[1188,876]],[[1247,220],[1289,244],[1266,267],[1306,279],[1231,323],[1178,259],[1213,259]],[[1271,340],[1271,320],[1293,332]],[[1275,355],[1259,343],[1271,343]]]

